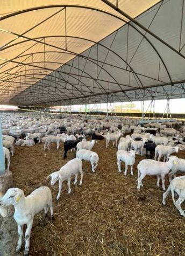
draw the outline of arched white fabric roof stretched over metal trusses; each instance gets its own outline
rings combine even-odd
[[[184,1],[104,2],[2,1],[1,103],[184,98]]]

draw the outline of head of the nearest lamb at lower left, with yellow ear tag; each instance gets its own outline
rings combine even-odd
[[[0,206],[16,205],[24,198],[23,190],[19,188],[8,189],[0,200]]]

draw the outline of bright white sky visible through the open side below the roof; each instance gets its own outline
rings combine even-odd
[[[130,103],[130,102],[123,102],[123,106],[126,103]],[[136,107],[135,107],[136,109],[141,109],[141,101],[133,101],[132,103],[136,104]],[[150,103],[151,103],[151,101],[145,101],[144,112],[146,112]],[[113,104],[115,106],[120,106],[122,103],[120,103],[120,102],[112,103],[112,107],[113,107]],[[167,105],[167,100],[155,100],[155,112],[163,113],[165,111],[166,105]],[[5,108],[16,109],[17,107],[16,106],[8,106],[8,105],[0,105],[0,109],[2,109],[2,108],[3,109],[5,109]],[[94,104],[88,105],[89,110],[91,110],[91,109],[100,110],[100,108],[106,109],[106,103],[97,104],[96,106]],[[169,108],[170,108],[170,113],[185,113],[185,98],[170,100]],[[72,109],[80,110],[81,106],[73,106]],[[153,110],[153,108],[152,108],[152,110]]]

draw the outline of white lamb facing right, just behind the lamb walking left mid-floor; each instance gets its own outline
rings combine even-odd
[[[79,158],[80,160],[90,161],[92,171],[95,172],[95,169],[98,166],[99,161],[97,153],[90,151],[88,149],[81,149],[76,152],[76,158]]]

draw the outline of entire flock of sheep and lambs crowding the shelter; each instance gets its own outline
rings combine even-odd
[[[131,175],[133,175],[136,154],[143,156],[146,150],[146,158],[150,154],[151,159],[141,160],[138,164],[138,190],[140,186],[143,186],[142,181],[146,175],[157,176],[157,186],[162,179],[162,189],[165,190],[165,176],[168,174],[170,184],[167,191],[163,193],[162,203],[166,204],[166,197],[171,192],[174,205],[181,215],[185,216],[181,208],[181,203],[185,199],[185,176],[175,177],[177,171],[185,172],[185,160],[171,155],[178,153],[179,150],[185,150],[185,124],[183,122],[156,122],[141,127],[141,125],[136,125],[137,120],[119,117],[53,117],[32,113],[29,115],[4,114],[1,122],[6,171],[9,171],[10,168],[10,151],[12,156],[15,154],[15,145],[34,146],[35,143],[44,143],[44,150],[46,148],[50,150],[50,143],[55,142],[56,149],[59,149],[63,142],[64,158],[67,157],[69,149],[76,149],[76,158],[68,161],[59,171],[55,171],[47,177],[47,179],[51,178],[51,185],[59,181],[57,200],[60,198],[64,181],[67,181],[68,193],[71,192],[72,176],[75,175],[74,184],[76,184],[80,174],[80,185],[82,185],[82,160],[89,161],[91,170],[95,172],[99,157],[91,149],[98,140],[106,140],[106,148],[109,147],[110,141],[113,141],[113,146],[116,144],[116,147],[119,142],[116,153],[117,166],[118,171],[121,172],[121,163],[125,163],[124,175],[127,175],[129,166]],[[124,137],[124,134],[130,135]],[[88,137],[91,138],[90,141],[87,141]],[[163,157],[163,162],[160,162],[161,157]],[[176,201],[174,193],[179,196]],[[15,207],[14,218],[18,224],[19,234],[17,251],[22,246],[23,226],[27,225],[24,251],[24,254],[27,255],[29,254],[34,215],[44,209],[47,216],[49,208],[51,218],[53,218],[51,190],[47,186],[41,186],[25,197],[23,190],[11,188],[0,200],[1,207],[8,205]]]

